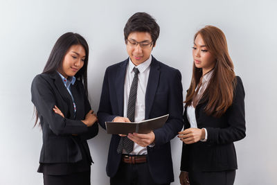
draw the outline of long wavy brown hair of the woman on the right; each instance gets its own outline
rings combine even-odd
[[[233,103],[233,89],[236,85],[233,62],[222,30],[215,26],[205,26],[195,33],[194,40],[198,34],[202,36],[206,48],[216,60],[213,75],[199,103],[208,101],[204,108],[206,114],[220,117]],[[193,62],[193,77],[186,95],[185,107],[192,105],[195,89],[202,75],[202,69],[195,67]]]

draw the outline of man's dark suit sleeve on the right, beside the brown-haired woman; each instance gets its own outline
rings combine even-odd
[[[176,70],[175,76],[170,78],[168,95],[168,121],[163,127],[154,130],[155,146],[163,145],[173,139],[184,126],[183,122],[183,87],[181,85],[181,73]]]

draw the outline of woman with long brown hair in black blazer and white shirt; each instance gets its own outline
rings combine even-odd
[[[226,37],[205,26],[194,37],[193,77],[186,95],[181,184],[233,184],[234,141],[245,136],[244,87],[235,76]]]

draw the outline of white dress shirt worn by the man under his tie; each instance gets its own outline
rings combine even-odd
[[[128,99],[129,99],[129,91],[131,89],[132,81],[134,78],[134,67],[139,69],[138,75],[138,89],[136,94],[136,107],[134,113],[134,121],[143,121],[145,120],[145,93],[146,87],[148,85],[148,78],[150,72],[150,64],[152,60],[152,55],[148,60],[135,66],[131,59],[129,58],[129,64],[126,69],[125,75],[125,82],[124,82],[124,117],[127,117],[127,107],[128,107]],[[123,154],[127,152],[123,149]],[[129,153],[130,155],[146,155],[147,148],[139,146],[138,144],[134,143],[134,149],[132,152]]]

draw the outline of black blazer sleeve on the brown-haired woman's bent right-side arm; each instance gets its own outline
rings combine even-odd
[[[229,127],[206,127],[208,132],[207,142],[210,144],[224,144],[239,141],[245,137],[245,113],[244,113],[244,88],[242,80],[237,77],[237,85],[234,91],[233,104],[227,109],[226,116]]]

